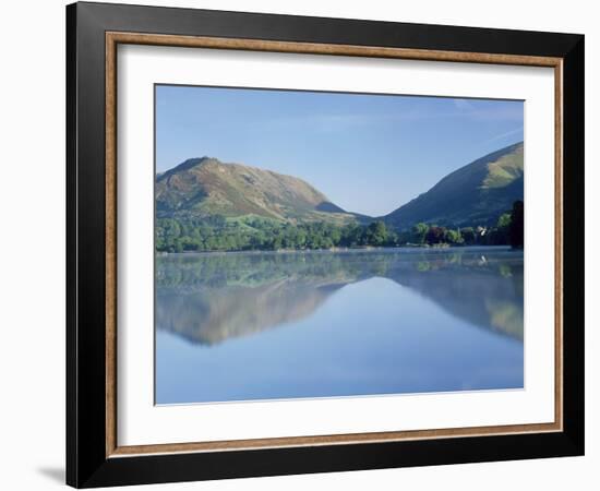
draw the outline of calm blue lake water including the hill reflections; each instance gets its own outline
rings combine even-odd
[[[156,260],[156,403],[523,387],[523,252]]]

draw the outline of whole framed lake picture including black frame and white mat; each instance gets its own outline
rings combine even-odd
[[[67,481],[584,453],[584,36],[67,8]]]

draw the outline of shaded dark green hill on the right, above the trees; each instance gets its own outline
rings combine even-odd
[[[406,229],[423,221],[440,226],[495,225],[523,200],[523,142],[455,170],[428,192],[383,217]]]

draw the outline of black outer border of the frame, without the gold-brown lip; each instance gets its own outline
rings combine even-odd
[[[563,431],[106,457],[105,33],[563,59]],[[67,483],[76,488],[584,454],[583,35],[80,2],[67,7]]]

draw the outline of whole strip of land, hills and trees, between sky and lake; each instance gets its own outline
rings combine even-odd
[[[344,209],[307,181],[217,158],[155,180],[156,251],[523,247],[524,145],[482,156],[387,215]]]

